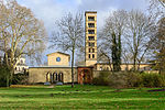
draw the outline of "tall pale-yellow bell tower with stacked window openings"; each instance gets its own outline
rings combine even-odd
[[[85,63],[86,66],[92,66],[97,63],[97,12],[86,11],[85,18]]]

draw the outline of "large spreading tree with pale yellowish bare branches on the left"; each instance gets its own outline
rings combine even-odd
[[[44,25],[35,19],[30,9],[18,4],[15,0],[0,1],[0,51],[6,57],[7,67],[11,69],[10,82],[16,61],[22,55],[41,55],[45,41]]]

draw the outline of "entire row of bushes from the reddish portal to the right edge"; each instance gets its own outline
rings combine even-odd
[[[108,72],[101,72],[99,77],[94,78],[92,82],[95,85],[110,86],[116,89],[130,87],[164,87],[165,75],[133,72],[110,74]]]

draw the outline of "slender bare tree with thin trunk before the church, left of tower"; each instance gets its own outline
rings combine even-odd
[[[51,38],[51,47],[57,46],[63,51],[72,52],[72,87],[74,87],[74,61],[75,51],[84,45],[82,14],[68,13],[57,21],[58,32]]]

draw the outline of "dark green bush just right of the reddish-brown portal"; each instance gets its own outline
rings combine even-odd
[[[99,77],[92,79],[94,85],[108,86],[109,85],[109,76],[110,72],[101,72],[99,73]]]

